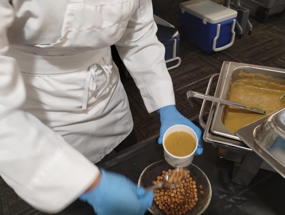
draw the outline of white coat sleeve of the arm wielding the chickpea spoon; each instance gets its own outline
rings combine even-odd
[[[7,28],[14,19],[0,1],[0,175],[26,202],[55,213],[80,196],[98,168],[33,115],[21,110],[25,86],[9,49]]]

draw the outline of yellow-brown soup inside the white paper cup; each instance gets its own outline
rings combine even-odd
[[[175,131],[166,137],[164,146],[170,154],[183,157],[195,150],[196,142],[191,134],[185,131]]]

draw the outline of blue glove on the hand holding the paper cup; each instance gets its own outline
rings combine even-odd
[[[186,117],[182,116],[180,112],[176,109],[175,105],[168,105],[163,108],[158,109],[158,112],[160,114],[160,137],[158,138],[158,143],[162,144],[162,138],[164,133],[168,128],[170,128],[173,125],[177,124],[183,124],[191,127],[198,136],[198,147],[195,152],[195,155],[200,155],[203,152],[203,145],[202,145],[202,139],[201,139],[201,130],[198,128],[193,122],[191,122]]]

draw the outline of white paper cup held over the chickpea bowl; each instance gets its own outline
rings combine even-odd
[[[166,140],[166,137],[175,131],[185,131],[194,137],[196,146],[195,146],[194,151],[191,154],[188,154],[188,155],[183,156],[183,157],[179,157],[179,156],[175,156],[173,154],[170,154],[167,151],[167,149],[165,148],[164,142]],[[168,162],[171,166],[174,166],[174,167],[178,167],[178,166],[186,167],[186,166],[189,166],[193,161],[194,154],[195,154],[195,152],[197,150],[197,146],[198,146],[198,137],[197,137],[197,134],[195,133],[195,131],[192,128],[190,128],[189,126],[180,125],[180,124],[174,125],[174,126],[171,126],[170,128],[168,128],[166,130],[166,132],[164,133],[163,138],[162,138],[162,145],[163,145],[163,149],[164,149],[164,158],[165,158],[166,162]]]

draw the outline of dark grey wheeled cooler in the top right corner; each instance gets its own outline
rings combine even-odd
[[[240,3],[259,23],[263,23],[269,15],[281,17],[285,13],[285,0],[240,0]]]

